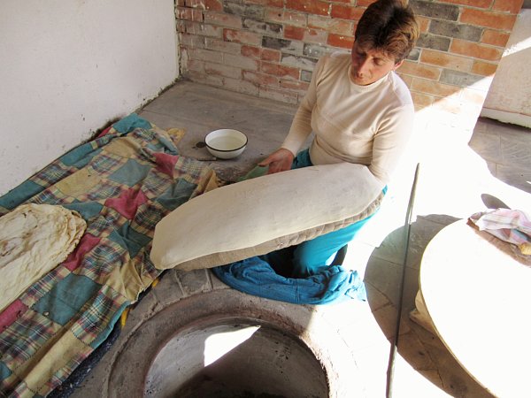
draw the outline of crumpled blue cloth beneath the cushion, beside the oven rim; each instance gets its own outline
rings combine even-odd
[[[305,278],[287,278],[259,256],[212,268],[228,286],[250,295],[258,295],[295,304],[327,304],[351,299],[366,301],[366,288],[358,272],[341,265],[323,267]]]

